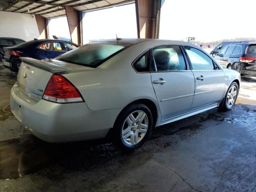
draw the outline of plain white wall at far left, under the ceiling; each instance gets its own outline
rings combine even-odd
[[[26,41],[39,38],[36,18],[30,14],[0,11],[0,37],[14,37]]]

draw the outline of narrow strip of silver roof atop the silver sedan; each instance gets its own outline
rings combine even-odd
[[[125,38],[125,39],[106,39],[106,40],[99,40],[94,42],[123,42],[123,43],[130,43],[130,44],[137,44],[140,42],[147,42],[148,44],[182,44],[182,45],[189,45],[189,46],[196,46],[195,44],[191,44],[184,41],[176,41],[176,40],[162,40],[162,39],[144,39],[144,38]]]

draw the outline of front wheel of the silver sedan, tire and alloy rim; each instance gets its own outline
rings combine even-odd
[[[230,110],[236,103],[236,99],[238,97],[238,91],[239,91],[238,84],[236,82],[232,82],[218,109],[220,111]]]

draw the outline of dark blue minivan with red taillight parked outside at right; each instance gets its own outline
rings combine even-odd
[[[237,70],[241,76],[256,77],[256,41],[229,44],[217,53],[215,59],[223,67]]]

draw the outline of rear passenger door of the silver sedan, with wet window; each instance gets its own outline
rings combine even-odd
[[[195,80],[181,47],[158,46],[151,49],[151,54],[154,66],[151,80],[162,119],[188,112],[194,97]]]

